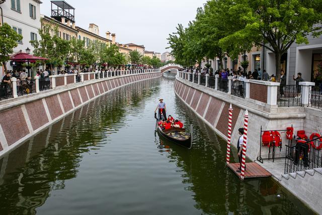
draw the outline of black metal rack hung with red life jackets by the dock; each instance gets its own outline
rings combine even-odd
[[[291,141],[293,139],[293,125],[291,127],[287,127],[285,130],[263,130],[261,126],[260,133],[260,155],[257,157],[257,161],[264,163],[264,160],[285,158],[285,157],[275,157],[275,148],[282,149],[282,137],[281,132],[286,133],[287,145],[291,146]],[[269,147],[268,158],[262,157],[262,147]],[[271,147],[272,147],[272,156],[271,156]]]

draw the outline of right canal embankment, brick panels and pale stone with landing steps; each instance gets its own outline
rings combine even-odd
[[[306,129],[314,131],[322,123],[320,110],[308,107],[277,107],[269,106],[261,101],[260,95],[256,99],[239,98],[201,86],[177,76],[175,87],[176,95],[191,108],[198,117],[208,124],[222,138],[227,139],[228,108],[232,104],[232,134],[231,143],[236,148],[239,137],[238,128],[244,125],[244,113],[249,111],[248,121],[248,146],[247,157],[255,161],[260,154],[261,127],[263,130],[284,130],[293,126],[294,131]],[[317,213],[322,213],[322,170],[320,168],[284,175],[285,144],[287,144],[285,132],[281,132],[283,147],[276,150],[275,157],[281,157],[279,162],[264,160],[262,165],[270,171],[273,178],[287,188],[295,196],[301,199]],[[268,158],[268,147],[262,147],[262,158]],[[258,162],[259,163],[259,162]]]

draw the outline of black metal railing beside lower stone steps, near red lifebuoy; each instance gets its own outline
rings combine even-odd
[[[284,174],[322,167],[322,141],[316,137],[306,142],[287,146],[285,151]]]

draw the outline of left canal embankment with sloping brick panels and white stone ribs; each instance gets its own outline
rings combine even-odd
[[[95,98],[160,76],[157,72],[90,80],[4,101],[0,103],[0,156]]]

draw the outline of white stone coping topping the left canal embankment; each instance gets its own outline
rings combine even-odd
[[[153,74],[153,73],[160,73],[160,72],[157,71],[157,72],[151,72],[148,74]],[[87,86],[87,85],[91,85],[91,84],[95,84],[95,83],[99,83],[99,82],[103,82],[103,81],[107,81],[107,80],[113,80],[113,79],[118,79],[118,78],[122,78],[122,77],[130,77],[130,76],[136,76],[136,75],[144,75],[144,74],[146,74],[146,73],[113,76],[113,77],[106,77],[104,79],[92,79],[92,80],[88,80],[85,82],[77,82],[77,83],[72,83],[72,84],[68,84],[68,85],[61,85],[59,87],[56,87],[55,89],[50,89],[50,90],[46,90],[46,91],[41,91],[39,93],[32,93],[32,94],[28,94],[28,95],[24,95],[24,96],[19,96],[17,98],[3,100],[0,102],[0,111],[14,108],[19,105],[23,105],[23,104],[26,104],[26,103],[29,103],[32,101],[43,99],[43,98],[53,96],[53,95],[56,95],[56,94],[59,94],[59,93],[65,92],[65,91],[73,90],[73,89],[76,89],[79,87],[83,87],[83,86]],[[64,75],[62,77],[64,77]]]

